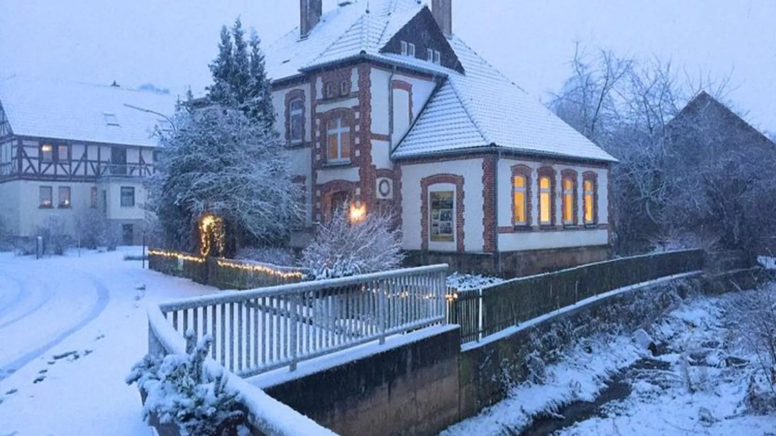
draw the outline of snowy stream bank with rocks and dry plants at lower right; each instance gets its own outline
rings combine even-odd
[[[729,314],[736,298],[740,294],[694,299],[663,317],[649,329],[662,344],[657,356],[626,336],[577,344],[546,369],[546,383],[517,386],[507,400],[441,435],[549,434],[546,426],[532,427],[534,421],[566,419],[563,414],[572,412],[565,405],[594,401],[610,390],[612,377],[626,386],[622,398],[615,393],[614,400],[591,407],[591,414],[554,434],[776,434],[776,415],[752,414],[744,403],[749,375],[759,364]],[[683,355],[689,365],[681,363]],[[731,365],[731,356],[748,363]]]

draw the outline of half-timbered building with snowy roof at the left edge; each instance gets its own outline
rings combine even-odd
[[[154,129],[175,98],[117,85],[0,80],[0,219],[17,237],[50,228],[75,237],[98,209],[123,244],[139,244]],[[156,113],[154,113],[156,112]]]

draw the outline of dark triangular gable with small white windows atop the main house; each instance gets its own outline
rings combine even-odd
[[[401,42],[415,45],[415,57],[425,61],[428,49],[438,50],[442,67],[464,73],[461,61],[455,50],[439,29],[434,16],[428,7],[421,9],[410,21],[407,22],[393,37],[381,48],[380,53],[401,54]]]

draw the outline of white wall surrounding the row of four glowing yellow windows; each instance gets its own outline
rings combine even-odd
[[[608,223],[608,171],[603,168],[590,168],[580,165],[552,164],[546,165],[538,161],[520,161],[515,159],[501,158],[498,163],[498,227],[511,227],[512,222],[512,173],[511,167],[517,164],[523,164],[531,168],[532,177],[530,216],[532,227],[539,225],[539,186],[536,171],[539,168],[551,166],[556,173],[556,192],[553,201],[555,202],[556,223],[559,225],[562,220],[563,197],[561,187],[562,171],[571,169],[577,172],[577,222],[583,221],[583,196],[582,175],[584,172],[592,171],[598,175],[598,223]],[[499,234],[498,249],[500,251],[520,251],[520,250],[538,250],[547,248],[561,247],[580,247],[585,245],[601,245],[608,243],[608,230],[585,229],[585,230],[558,230],[558,231],[518,231],[512,234]]]

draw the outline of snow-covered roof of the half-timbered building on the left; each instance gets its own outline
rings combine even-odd
[[[17,136],[155,147],[154,127],[165,127],[165,119],[140,109],[171,116],[176,101],[174,95],[110,85],[0,79],[0,104]]]

